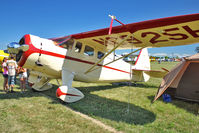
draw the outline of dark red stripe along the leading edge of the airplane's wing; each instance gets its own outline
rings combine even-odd
[[[117,34],[117,33],[122,33],[122,32],[134,33],[138,30],[180,24],[180,23],[191,22],[191,21],[196,21],[196,20],[199,20],[198,13],[174,16],[174,17],[167,17],[167,18],[160,18],[160,19],[153,19],[153,20],[147,20],[147,21],[142,21],[142,22],[126,24],[125,27],[124,26],[112,27],[112,34]],[[75,39],[84,39],[84,38],[89,38],[89,37],[103,36],[103,35],[107,35],[108,31],[109,31],[109,28],[104,28],[104,29],[98,29],[98,30],[73,34],[73,35],[71,35],[71,37],[75,38]],[[59,38],[54,38],[52,40],[56,41],[59,39],[65,39],[67,37],[68,36],[59,37]]]

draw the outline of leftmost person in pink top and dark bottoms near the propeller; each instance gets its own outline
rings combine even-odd
[[[3,59],[2,63],[2,68],[3,68],[3,77],[4,77],[4,82],[3,82],[3,90],[7,93],[8,92],[8,68],[7,68],[7,62],[8,58],[5,57]]]

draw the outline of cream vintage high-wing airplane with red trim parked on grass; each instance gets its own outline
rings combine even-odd
[[[16,53],[19,66],[31,70],[29,82],[33,84],[33,89],[50,89],[51,79],[62,79],[62,86],[57,89],[56,95],[71,103],[84,97],[72,87],[73,80],[147,81],[150,75],[156,73],[150,70],[147,47],[199,42],[199,14],[131,24],[123,24],[113,16],[111,18],[109,28],[64,37],[44,39],[26,34],[19,43],[10,43],[8,50]],[[113,20],[121,26],[112,27]],[[116,49],[137,49],[133,52],[140,50],[135,65],[123,61],[122,57],[116,57]]]

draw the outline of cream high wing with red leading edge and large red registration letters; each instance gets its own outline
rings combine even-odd
[[[118,40],[123,41],[117,49],[143,47],[167,47],[199,43],[199,13],[131,23],[109,28],[52,38],[61,43],[75,39],[96,47],[114,48]]]

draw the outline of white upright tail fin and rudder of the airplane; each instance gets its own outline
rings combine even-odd
[[[140,51],[138,58],[135,62],[135,66],[133,68],[133,75],[132,75],[132,81],[140,81],[140,82],[146,82],[149,80],[150,76],[144,71],[151,70],[150,60],[149,60],[149,54],[147,48],[144,48]]]

